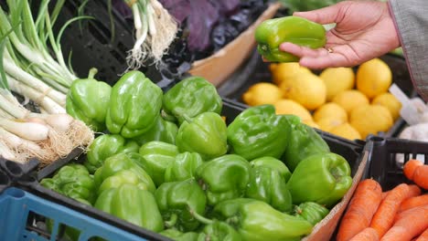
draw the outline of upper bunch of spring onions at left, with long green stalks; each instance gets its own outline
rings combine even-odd
[[[55,1],[52,14],[48,11],[50,0],[39,1],[35,16],[28,0],[6,2],[8,13],[0,7],[0,35],[7,36],[2,64],[5,73],[33,89],[48,93],[50,99],[65,107],[65,94],[78,77],[66,64],[60,38],[71,23],[91,17],[71,18],[55,36],[52,27],[65,0]]]

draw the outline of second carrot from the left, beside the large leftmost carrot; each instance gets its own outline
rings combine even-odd
[[[401,183],[394,187],[390,193],[380,203],[370,226],[376,229],[381,238],[394,223],[394,217],[400,208],[400,204],[405,199],[412,197],[414,190],[410,185]]]

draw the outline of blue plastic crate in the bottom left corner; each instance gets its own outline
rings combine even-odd
[[[9,187],[0,194],[0,217],[2,240],[58,240],[59,224],[79,230],[80,241],[93,237],[121,241],[146,240],[16,187]],[[53,220],[51,232],[48,232],[45,223],[37,221],[43,219]]]

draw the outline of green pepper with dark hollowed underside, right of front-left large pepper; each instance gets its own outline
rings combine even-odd
[[[205,214],[207,198],[195,179],[181,182],[162,183],[155,192],[156,203],[166,228],[176,227],[179,231],[193,231],[199,221],[192,212]]]

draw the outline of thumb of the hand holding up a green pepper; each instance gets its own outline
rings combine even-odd
[[[337,5],[329,5],[314,11],[294,12],[293,16],[304,17],[321,25],[332,24],[337,23],[337,19],[339,19],[338,16],[340,12],[342,12],[342,7],[343,4],[338,3]]]

